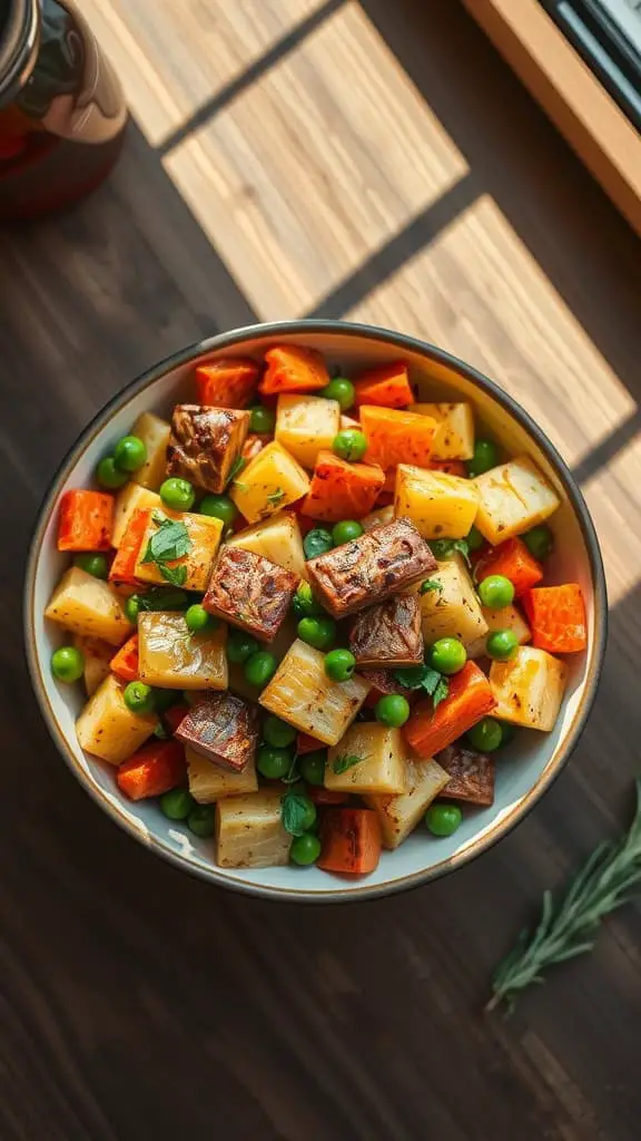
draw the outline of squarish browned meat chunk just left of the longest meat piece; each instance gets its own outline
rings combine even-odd
[[[241,547],[224,547],[211,573],[203,606],[210,614],[271,641],[287,615],[300,580],[293,570]]]

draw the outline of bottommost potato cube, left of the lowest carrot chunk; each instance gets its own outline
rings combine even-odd
[[[218,801],[216,863],[219,867],[278,867],[289,863],[292,837],[281,820],[282,801],[278,788],[261,788]]]

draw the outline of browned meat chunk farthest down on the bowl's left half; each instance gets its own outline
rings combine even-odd
[[[212,694],[192,705],[175,736],[214,764],[242,772],[254,759],[258,711],[232,694]]]

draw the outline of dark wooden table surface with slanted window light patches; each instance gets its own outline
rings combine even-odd
[[[108,185],[0,236],[2,1141],[632,1141],[641,914],[511,1021],[492,969],[631,810],[641,674],[640,249],[453,0],[86,0],[133,121]],[[573,466],[611,634],[579,747],[456,875],[295,907],[180,874],[89,801],[21,653],[34,512],[149,363],[348,316],[488,372]]]

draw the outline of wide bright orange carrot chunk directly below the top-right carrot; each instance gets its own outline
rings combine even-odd
[[[437,422],[431,416],[398,408],[360,407],[360,427],[367,438],[366,459],[387,471],[397,463],[415,463],[427,468],[430,462]]]

